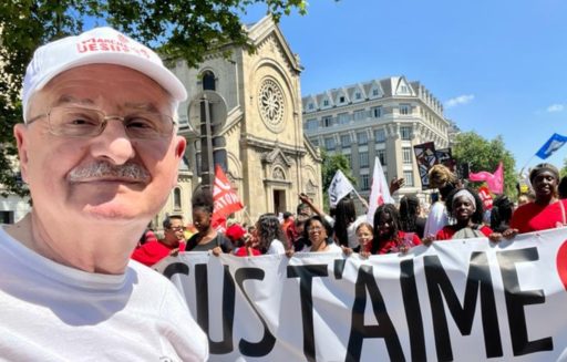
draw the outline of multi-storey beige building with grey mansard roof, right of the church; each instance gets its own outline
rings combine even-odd
[[[413,146],[433,141],[449,147],[450,122],[443,106],[420,82],[404,76],[342,86],[303,96],[303,130],[311,143],[350,161],[357,189],[368,196],[374,157],[386,179],[404,177],[405,186],[394,195],[416,194],[427,201]]]

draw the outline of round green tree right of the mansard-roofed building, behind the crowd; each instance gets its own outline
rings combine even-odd
[[[502,161],[504,166],[504,193],[508,196],[516,195],[517,176],[515,172],[516,161],[506,149],[501,136],[488,141],[475,132],[464,132],[455,137],[453,157],[458,164],[468,163],[472,173],[486,170],[494,173]],[[480,186],[480,183],[472,183]]]

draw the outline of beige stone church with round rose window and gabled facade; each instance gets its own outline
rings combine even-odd
[[[247,31],[255,53],[233,46],[229,58],[214,53],[198,69],[182,61],[172,69],[188,93],[179,105],[179,134],[187,138],[187,152],[178,186],[154,219],[157,227],[166,214],[192,220],[190,198],[203,169],[195,104],[204,90],[216,93],[226,114],[215,138],[221,138],[226,175],[245,205],[237,220],[254,224],[264,213],[295,213],[299,193],[322,203],[321,157],[303,136],[299,59],[270,17]]]

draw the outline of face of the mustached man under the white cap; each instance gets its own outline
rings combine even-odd
[[[168,94],[153,80],[128,68],[92,64],[54,77],[33,95],[33,118],[53,106],[100,110],[126,116],[150,111],[172,114]],[[185,139],[171,136],[132,139],[122,122],[111,120],[94,137],[64,137],[49,132],[48,117],[14,127],[23,179],[29,184],[34,210],[47,221],[147,221],[157,214],[177,182]],[[130,167],[137,176],[93,173],[101,165]],[[104,167],[103,167],[104,168]],[[51,217],[51,219],[49,219]]]

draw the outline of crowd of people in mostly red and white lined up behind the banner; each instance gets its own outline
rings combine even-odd
[[[435,165],[429,176],[440,195],[429,214],[423,211],[416,196],[405,195],[398,206],[378,207],[373,223],[369,224],[365,214],[357,215],[350,197],[339,200],[326,214],[301,194],[297,214],[264,214],[250,226],[229,220],[225,232],[212,228],[213,197],[207,189],[199,189],[193,201],[193,220],[198,232],[185,244],[183,232],[177,239],[173,237],[176,229],[171,229],[171,221],[166,219],[165,246],[156,248],[144,244],[132,257],[145,262],[141,257],[143,252],[157,249],[159,259],[183,250],[213,250],[215,255],[229,252],[240,257],[321,251],[359,252],[368,257],[408,252],[414,246],[451,239],[488,238],[498,242],[517,234],[566,225],[559,173],[553,165],[540,164],[532,169],[533,194],[520,195],[517,204],[506,195],[498,195],[489,210],[485,209],[478,193],[463,186],[447,167]]]

